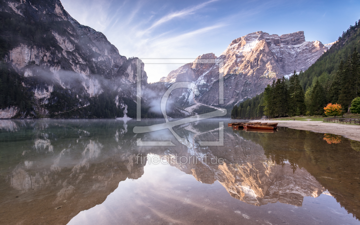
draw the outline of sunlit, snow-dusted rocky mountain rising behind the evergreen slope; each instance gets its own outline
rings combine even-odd
[[[331,43],[327,46],[331,46]],[[216,58],[212,53],[199,56],[192,64],[171,71],[161,81],[173,83],[194,81],[201,94],[198,102],[219,104],[219,62],[224,62],[224,104],[234,105],[264,91],[274,79],[290,75],[294,70],[309,68],[328,47],[320,41],[305,41],[303,31],[282,36],[262,31],[233,40]],[[197,64],[198,59],[216,59],[215,64]],[[188,92],[186,101],[193,103]],[[180,95],[181,96],[181,95]],[[191,98],[191,97],[190,97]],[[180,99],[184,101],[184,99]]]

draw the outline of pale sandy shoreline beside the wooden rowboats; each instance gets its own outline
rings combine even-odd
[[[264,120],[253,120],[264,122]],[[265,120],[267,121],[267,120]],[[310,130],[319,133],[338,134],[355,141],[360,141],[360,126],[341,124],[341,123],[323,123],[322,121],[298,121],[298,120],[271,120],[278,122],[278,127],[288,127],[298,130]]]

